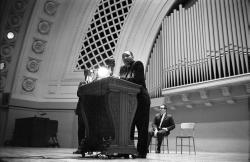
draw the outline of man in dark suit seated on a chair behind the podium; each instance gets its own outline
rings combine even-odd
[[[175,128],[174,119],[171,115],[167,114],[167,106],[160,106],[160,113],[155,115],[152,123],[152,130],[148,135],[148,146],[150,145],[153,136],[157,137],[157,150],[156,153],[161,152],[161,143],[164,136],[168,136],[170,131]]]

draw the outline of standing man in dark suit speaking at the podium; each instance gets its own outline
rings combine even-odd
[[[146,158],[148,141],[148,124],[150,97],[146,88],[144,66],[141,61],[134,61],[131,51],[125,51],[122,54],[124,65],[120,68],[120,79],[141,85],[140,92],[137,95],[137,109],[132,122],[130,138],[134,139],[135,126],[138,130],[137,158]]]

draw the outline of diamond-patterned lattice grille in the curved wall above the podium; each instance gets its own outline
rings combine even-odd
[[[106,65],[134,0],[101,0],[84,37],[76,71]]]

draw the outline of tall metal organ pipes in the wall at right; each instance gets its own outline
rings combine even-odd
[[[152,46],[146,84],[161,90],[249,73],[247,0],[198,0],[165,16]]]

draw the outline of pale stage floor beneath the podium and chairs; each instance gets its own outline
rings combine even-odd
[[[134,162],[248,162],[249,154],[241,153],[205,153],[197,152],[196,155],[175,154],[175,152],[155,154],[149,153],[147,159],[105,159],[97,155],[72,154],[72,148],[23,148],[1,147],[0,162],[79,162],[81,161],[134,161]],[[96,153],[94,153],[96,154]]]

